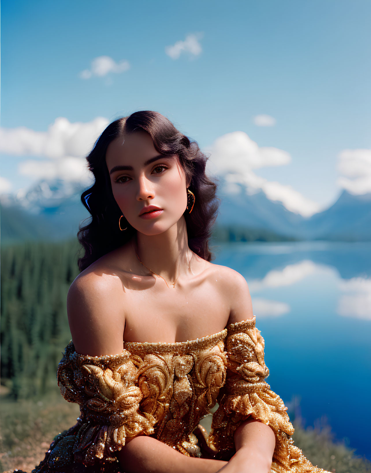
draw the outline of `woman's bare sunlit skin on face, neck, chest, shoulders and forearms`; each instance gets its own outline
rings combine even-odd
[[[151,136],[135,131],[110,143],[106,164],[114,198],[137,232],[71,285],[67,313],[76,351],[111,355],[123,350],[123,340],[195,340],[252,318],[245,279],[188,247],[183,214],[190,183],[177,156],[159,156]],[[151,205],[160,210],[141,216]],[[236,430],[235,443],[237,453],[226,463],[187,457],[155,438],[138,436],[126,442],[118,459],[126,473],[270,471],[275,436],[269,426],[248,419]]]

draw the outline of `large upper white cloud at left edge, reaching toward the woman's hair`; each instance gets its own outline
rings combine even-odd
[[[83,157],[107,125],[108,120],[102,117],[87,123],[70,123],[67,118],[59,117],[48,131],[0,128],[0,152],[46,158]]]

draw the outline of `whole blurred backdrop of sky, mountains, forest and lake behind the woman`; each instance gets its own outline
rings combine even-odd
[[[367,0],[2,1],[2,471],[75,423],[55,373],[85,156],[138,110],[210,155],[214,261],[249,284],[295,443],[371,471],[370,20]]]

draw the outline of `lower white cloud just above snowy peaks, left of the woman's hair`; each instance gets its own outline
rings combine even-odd
[[[29,159],[18,165],[18,171],[37,180],[58,178],[88,185],[93,183],[93,175],[86,164],[85,159],[73,156],[43,161]]]

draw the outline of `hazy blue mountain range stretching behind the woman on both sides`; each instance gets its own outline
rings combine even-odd
[[[260,232],[270,235],[270,240],[371,241],[371,193],[352,195],[342,191],[328,209],[304,218],[281,202],[268,199],[262,190],[236,184],[232,193],[224,184],[220,179],[219,229]],[[90,215],[80,201],[83,191],[78,184],[42,180],[21,195],[3,194],[2,243],[76,236],[79,223]]]

